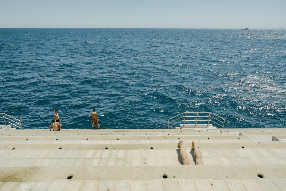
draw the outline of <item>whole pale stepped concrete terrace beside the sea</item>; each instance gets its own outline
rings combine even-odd
[[[286,129],[181,128],[0,131],[0,190],[286,190]]]

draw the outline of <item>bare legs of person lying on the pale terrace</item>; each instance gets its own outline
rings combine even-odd
[[[180,149],[180,156],[182,158],[183,165],[193,165],[187,158],[187,153],[184,149],[182,140],[180,140],[180,142],[178,143],[178,148]],[[196,165],[204,165],[204,163],[202,162],[202,154],[200,153],[200,150],[198,149],[194,141],[192,141],[192,149],[194,150],[194,154],[196,156]]]

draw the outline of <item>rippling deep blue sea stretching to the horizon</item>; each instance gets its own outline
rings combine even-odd
[[[10,46],[12,45],[12,46]],[[286,29],[0,29],[0,112],[25,129],[286,127]]]

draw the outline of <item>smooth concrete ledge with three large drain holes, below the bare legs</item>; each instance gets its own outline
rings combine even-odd
[[[233,170],[235,169],[235,170]],[[259,170],[258,170],[259,169]],[[260,180],[258,174],[263,174],[267,179],[284,179],[286,166],[81,166],[69,168],[65,166],[54,167],[3,167],[0,169],[0,180],[4,182],[16,182],[21,177],[21,181],[55,181],[67,180],[72,175],[72,181],[86,180],[162,180],[166,175],[168,180],[182,179],[254,179]],[[9,172],[9,173],[7,173]],[[112,172],[112,173],[110,173]],[[192,172],[192,173],[190,173]],[[18,176],[13,176],[17,174]],[[5,176],[6,175],[6,176]],[[7,176],[10,175],[10,176]],[[12,175],[12,176],[11,176]],[[28,175],[28,176],[27,176]],[[52,175],[52,176],[51,176]]]

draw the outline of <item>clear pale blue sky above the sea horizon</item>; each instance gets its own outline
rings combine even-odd
[[[0,0],[0,28],[286,28],[286,0]]]

